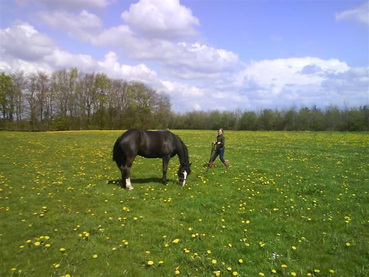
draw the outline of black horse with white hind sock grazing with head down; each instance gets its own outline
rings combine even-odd
[[[178,155],[180,162],[177,174],[182,186],[186,184],[186,178],[191,173],[187,147],[179,136],[170,131],[130,129],[118,138],[113,148],[113,160],[122,172],[123,188],[133,189],[129,177],[136,155],[163,159],[163,184],[167,183],[169,159],[175,155]]]

